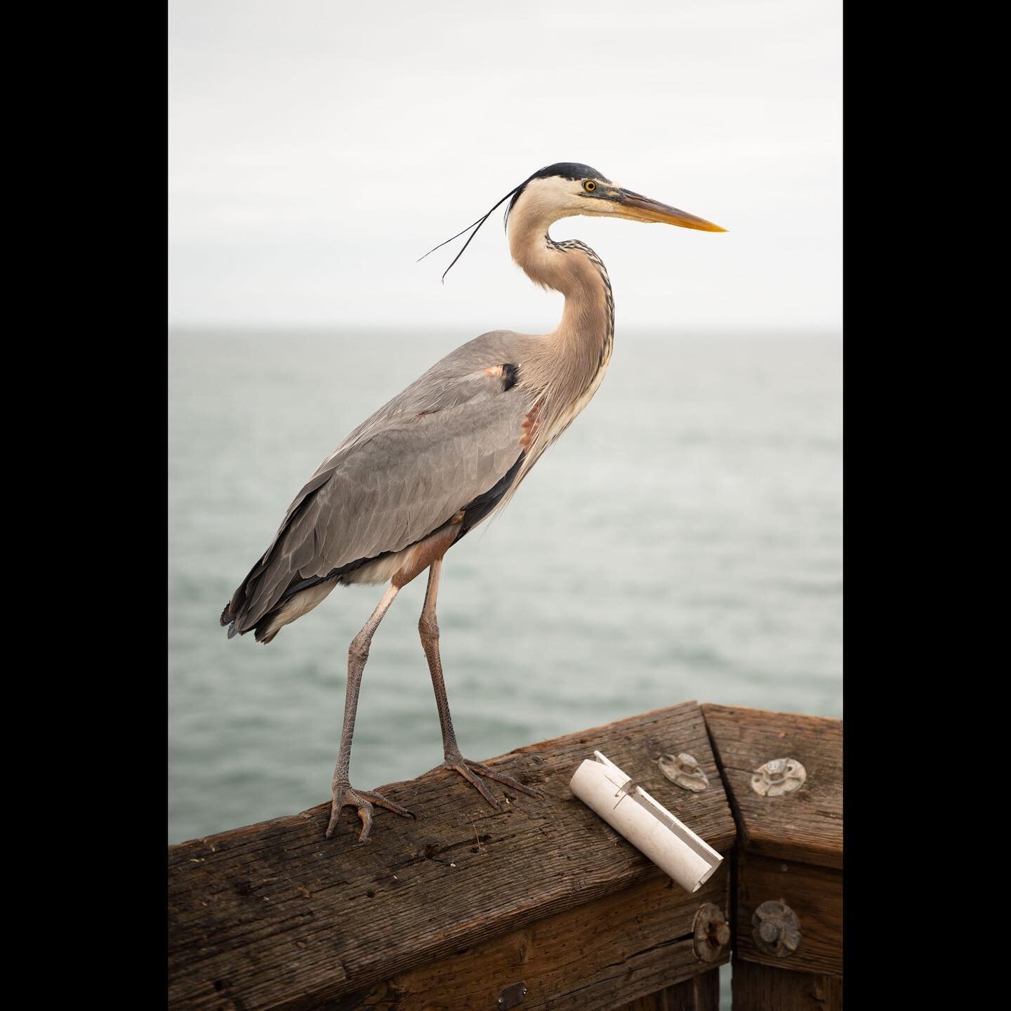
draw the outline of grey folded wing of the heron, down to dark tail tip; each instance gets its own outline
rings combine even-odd
[[[523,452],[529,395],[496,366],[524,339],[458,348],[359,426],[291,503],[222,615],[252,628],[292,582],[399,551],[488,491]]]

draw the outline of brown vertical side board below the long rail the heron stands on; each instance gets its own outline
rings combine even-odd
[[[395,976],[358,995],[354,1006],[491,1011],[507,988],[522,984],[523,1011],[613,1011],[629,998],[655,994],[730,960],[728,945],[718,961],[703,962],[693,933],[696,912],[707,902],[723,909],[729,921],[729,881],[724,865],[690,895],[666,876],[651,878]]]

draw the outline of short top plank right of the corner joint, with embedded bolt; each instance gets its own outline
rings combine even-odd
[[[842,721],[710,703],[702,710],[743,848],[841,869]],[[783,797],[759,797],[752,773],[786,757],[807,769],[804,786]]]

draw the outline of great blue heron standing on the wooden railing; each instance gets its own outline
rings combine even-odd
[[[589,403],[611,359],[615,303],[608,272],[589,247],[557,243],[548,228],[562,217],[591,214],[725,231],[623,189],[586,165],[564,162],[535,172],[454,236],[470,232],[450,267],[505,200],[513,259],[535,284],[565,296],[561,323],[549,334],[482,334],[355,429],[295,496],[270,547],[221,613],[229,639],[236,632],[253,631],[258,642],[267,643],[338,583],[389,580],[348,653],[328,838],[346,805],[358,809],[362,842],[372,827],[373,804],[412,817],[379,794],[352,789],[349,766],[372,636],[401,587],[425,569],[429,584],[418,627],[435,687],[445,767],[495,809],[499,804],[482,776],[541,796],[460,753],[439,658],[436,598],[443,556],[513,495],[541,454]]]

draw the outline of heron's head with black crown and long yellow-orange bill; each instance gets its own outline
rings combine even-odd
[[[562,217],[588,214],[631,221],[676,224],[700,232],[726,232],[719,224],[678,210],[613,183],[603,173],[578,162],[558,162],[535,172],[511,194],[507,221],[513,213],[550,224]]]

